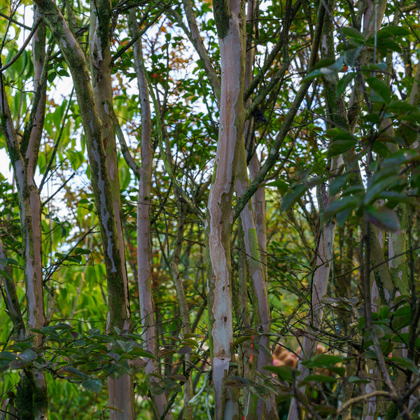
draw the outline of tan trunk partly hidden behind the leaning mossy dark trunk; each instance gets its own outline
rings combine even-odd
[[[112,6],[109,0],[91,3],[90,13],[90,69],[92,69],[92,87],[94,101],[97,104],[99,118],[102,121],[102,141],[106,154],[106,167],[111,184],[111,200],[116,219],[116,232],[120,251],[120,264],[123,283],[123,294],[118,299],[126,308],[125,318],[111,319],[111,325],[121,325],[131,332],[130,300],[128,298],[127,268],[125,265],[125,246],[121,219],[120,181],[118,178],[118,155],[116,149],[115,123],[113,114],[113,90],[111,80],[111,18]],[[108,325],[109,327],[109,325]],[[125,374],[120,378],[108,378],[109,403],[115,410],[110,410],[111,420],[134,419],[134,388],[132,377]]]

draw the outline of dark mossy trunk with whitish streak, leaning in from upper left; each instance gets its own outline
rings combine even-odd
[[[123,265],[120,257],[116,217],[113,209],[111,182],[106,166],[106,155],[102,141],[102,121],[99,118],[87,63],[83,50],[71,33],[69,26],[54,1],[36,1],[43,20],[52,31],[66,63],[69,65],[76,90],[80,117],[86,137],[87,155],[90,164],[92,189],[98,212],[99,227],[104,248],[104,262],[109,293],[110,328],[114,325],[127,327],[128,308],[124,301],[125,290]],[[123,298],[121,298],[123,297]]]

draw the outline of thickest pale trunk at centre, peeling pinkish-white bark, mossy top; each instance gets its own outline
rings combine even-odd
[[[207,207],[209,276],[208,311],[216,419],[237,419],[237,392],[223,386],[233,355],[230,294],[230,234],[237,150],[244,132],[244,2],[214,1],[221,51],[221,108],[218,146]]]

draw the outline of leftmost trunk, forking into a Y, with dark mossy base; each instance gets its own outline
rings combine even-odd
[[[38,8],[34,6],[34,22],[39,18]],[[42,276],[42,231],[41,200],[34,181],[38,162],[39,145],[45,118],[45,25],[41,23],[34,32],[32,57],[34,60],[34,97],[29,122],[23,137],[16,134],[10,115],[6,90],[1,75],[0,112],[1,130],[6,137],[6,145],[13,174],[18,187],[20,202],[20,221],[22,233],[22,256],[25,261],[25,292],[27,302],[26,336],[31,337],[35,348],[42,345],[42,336],[31,332],[33,328],[45,325]],[[9,288],[10,289],[10,288]],[[13,293],[13,290],[9,290]],[[12,297],[12,296],[10,296]],[[12,297],[13,298],[13,297]],[[18,334],[23,332],[19,328]],[[25,396],[20,390],[25,388]],[[48,398],[45,373],[27,369],[21,375],[20,388],[16,395],[17,415],[30,412],[35,420],[48,419]]]

